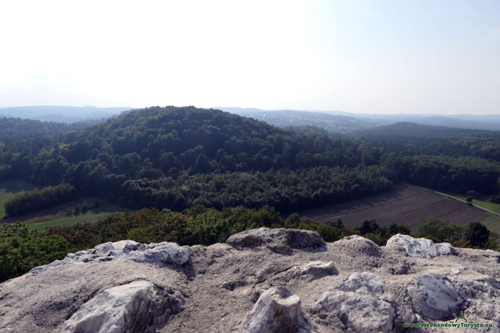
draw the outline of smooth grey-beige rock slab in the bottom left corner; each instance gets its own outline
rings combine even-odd
[[[0,284],[0,332],[54,332],[104,290],[144,280],[165,297],[189,296],[182,272],[127,260],[60,265]]]

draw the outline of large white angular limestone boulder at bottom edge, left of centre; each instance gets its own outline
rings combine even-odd
[[[106,289],[83,304],[61,333],[154,332],[182,309],[179,298],[161,295],[150,282],[134,281]]]

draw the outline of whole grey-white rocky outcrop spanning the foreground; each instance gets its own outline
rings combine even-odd
[[[105,243],[0,284],[0,332],[406,332],[460,316],[498,332],[498,264],[404,235],[385,247],[267,228],[208,247]]]

